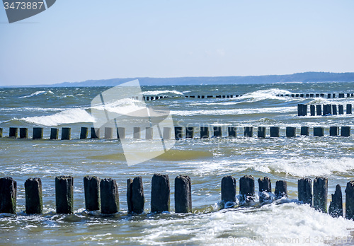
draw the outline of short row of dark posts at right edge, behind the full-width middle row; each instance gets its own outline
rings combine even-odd
[[[338,107],[338,110],[337,110]],[[297,105],[297,115],[298,116],[307,116],[307,105],[306,104],[298,104]],[[336,105],[336,104],[326,104],[326,105],[309,105],[310,115],[344,115],[344,105]],[[346,105],[346,115],[351,115],[352,113],[352,105]]]

